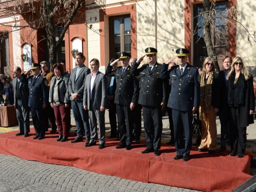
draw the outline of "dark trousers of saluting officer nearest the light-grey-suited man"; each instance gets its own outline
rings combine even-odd
[[[133,126],[130,106],[116,104],[116,112],[121,145],[131,145]]]

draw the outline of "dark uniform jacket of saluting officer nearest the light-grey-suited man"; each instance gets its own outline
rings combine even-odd
[[[123,75],[121,75],[122,68],[112,71],[112,66],[108,65],[106,75],[116,77],[115,104],[130,105],[138,102],[138,80],[130,74],[130,68],[128,66]]]

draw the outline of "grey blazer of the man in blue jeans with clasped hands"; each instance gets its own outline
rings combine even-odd
[[[78,67],[74,68],[70,74],[69,82],[68,82],[68,90],[69,94],[77,93],[79,100],[83,100],[84,94],[84,84],[86,76],[91,72],[91,70],[85,65],[82,66],[82,69],[78,73],[78,77],[76,78],[76,70]],[[70,96],[70,100],[73,100]]]

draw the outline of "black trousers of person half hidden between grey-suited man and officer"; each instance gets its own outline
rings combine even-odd
[[[116,137],[118,133],[116,131],[116,104],[114,100],[108,100],[108,116],[109,116],[109,123],[110,123],[110,136]]]

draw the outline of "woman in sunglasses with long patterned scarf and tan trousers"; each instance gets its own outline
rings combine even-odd
[[[200,74],[200,108],[202,121],[202,139],[198,151],[212,154],[215,152],[217,128],[216,114],[220,105],[219,78],[215,72],[215,62],[208,57],[204,60]]]

